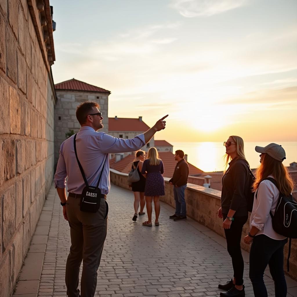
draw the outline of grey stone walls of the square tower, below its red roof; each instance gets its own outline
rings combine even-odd
[[[76,108],[85,101],[97,102],[102,112],[103,129],[100,131],[108,133],[108,94],[83,91],[61,91],[56,90],[57,103],[55,106],[55,164],[59,159],[61,143],[66,139],[65,134],[69,130],[77,133],[80,124],[76,119]]]

